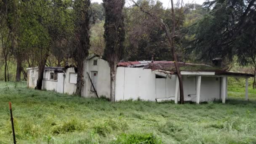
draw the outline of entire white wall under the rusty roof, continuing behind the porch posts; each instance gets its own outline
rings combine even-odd
[[[196,101],[197,80],[195,76],[183,75],[184,100]],[[218,80],[216,80],[216,78]],[[175,96],[176,75],[171,78],[155,78],[155,72],[143,68],[117,68],[116,101],[144,99],[155,101],[156,98]],[[190,97],[189,97],[190,95]],[[202,77],[200,101],[220,98],[220,77]]]

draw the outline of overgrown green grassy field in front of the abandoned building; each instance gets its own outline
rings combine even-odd
[[[8,101],[18,144],[256,143],[256,91],[243,101],[242,87],[229,87],[227,104],[176,105],[112,103],[0,82],[0,144],[12,142]]]

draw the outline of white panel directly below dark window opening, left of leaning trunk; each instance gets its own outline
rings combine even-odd
[[[165,78],[155,79],[156,98],[166,98],[166,81],[165,80],[166,80]]]

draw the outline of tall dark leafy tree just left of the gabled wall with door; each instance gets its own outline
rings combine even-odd
[[[90,48],[90,7],[91,0],[75,0],[75,51],[74,58],[77,63],[77,89],[76,94],[81,95],[83,89],[83,64]]]

